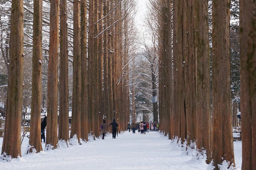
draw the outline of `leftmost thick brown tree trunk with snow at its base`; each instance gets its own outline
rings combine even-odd
[[[11,3],[10,59],[3,157],[21,156],[21,112],[23,87],[23,0]]]

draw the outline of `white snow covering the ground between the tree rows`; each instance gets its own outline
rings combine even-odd
[[[0,138],[0,150],[3,138]],[[0,170],[211,170],[204,159],[197,159],[196,151],[184,151],[158,132],[141,135],[136,131],[112,134],[70,148],[26,154],[28,138],[22,143],[22,157],[9,162],[0,160]],[[43,144],[44,147],[44,144]],[[241,141],[234,142],[235,163],[241,168]],[[225,168],[223,168],[224,170]]]

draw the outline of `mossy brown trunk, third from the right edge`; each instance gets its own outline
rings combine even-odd
[[[196,57],[196,146],[204,148],[207,164],[211,161],[210,57],[208,0],[195,1]]]

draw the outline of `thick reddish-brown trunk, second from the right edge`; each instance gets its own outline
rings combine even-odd
[[[234,164],[232,112],[230,93],[230,0],[213,0],[212,15],[212,99],[213,148],[212,160],[218,164]]]

